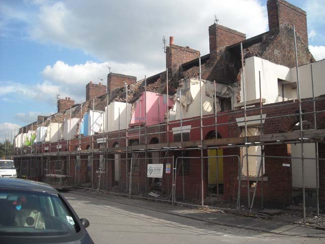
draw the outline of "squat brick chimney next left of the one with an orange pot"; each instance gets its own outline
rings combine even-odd
[[[114,95],[118,89],[136,82],[136,77],[126,74],[109,73],[107,75],[107,90],[110,96]]]

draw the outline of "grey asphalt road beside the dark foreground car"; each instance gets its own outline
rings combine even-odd
[[[87,231],[95,243],[324,243],[323,238],[265,233],[73,192],[64,195],[78,216],[89,220]]]

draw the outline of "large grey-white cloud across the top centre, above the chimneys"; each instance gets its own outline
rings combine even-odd
[[[130,62],[146,70],[161,70],[165,64],[162,36],[174,35],[175,44],[206,54],[208,26],[215,14],[220,24],[246,32],[248,37],[267,30],[266,7],[257,0],[209,0],[204,4],[196,0],[82,0],[78,4],[42,3],[28,33],[38,42],[81,49],[125,67]]]

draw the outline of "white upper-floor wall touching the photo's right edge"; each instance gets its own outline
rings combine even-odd
[[[311,69],[313,69],[315,97],[325,94],[325,60],[299,66],[299,84],[301,98],[312,97]],[[297,82],[296,67],[290,69],[291,79]]]

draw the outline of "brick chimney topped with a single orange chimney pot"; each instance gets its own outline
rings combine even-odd
[[[169,37],[169,46],[166,47],[166,65],[171,74],[175,74],[179,66],[200,56],[200,52],[190,47],[181,47],[174,44],[174,37]]]

